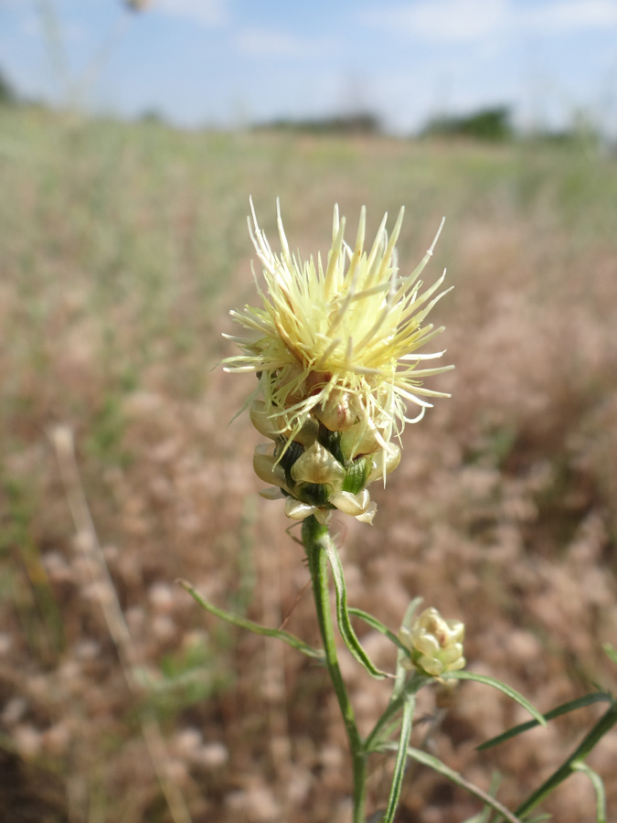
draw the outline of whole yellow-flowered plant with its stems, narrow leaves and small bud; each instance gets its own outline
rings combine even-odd
[[[420,597],[410,604],[398,634],[373,615],[349,607],[343,566],[328,532],[336,510],[372,523],[376,505],[368,486],[375,480],[385,485],[388,474],[399,465],[400,434],[405,424],[420,422],[431,408],[431,400],[446,396],[424,386],[424,379],[452,368],[441,365],[443,351],[425,349],[442,331],[441,326],[429,322],[429,315],[448,291],[441,288],[445,273],[428,286],[420,280],[441,226],[420,264],[404,274],[399,272],[395,250],[402,209],[389,236],[384,217],[367,249],[365,209],[360,214],[355,244],[350,246],[345,241],[345,219],[335,208],[332,245],[324,261],[320,256],[303,261],[293,254],[280,210],[277,217],[279,253],[271,250],[251,203],[250,237],[262,268],[261,273],[253,271],[260,305],[231,312],[241,331],[226,337],[237,344],[239,354],[226,358],[223,366],[229,372],[251,372],[257,378],[246,405],[253,425],[268,443],[258,446],[253,466],[268,484],[262,496],[284,499],[287,517],[302,520],[302,542],[323,649],[309,647],[288,632],[229,615],[208,604],[187,584],[186,588],[213,614],[261,635],[276,636],[327,668],[346,725],[353,766],[354,823],[367,820],[368,758],[390,751],[395,754],[395,764],[388,802],[371,820],[394,820],[410,758],[480,798],[485,809],[496,813],[496,819],[519,820],[494,796],[472,786],[432,754],[410,746],[416,695],[419,689],[436,684],[445,697],[456,685],[452,681],[475,679],[504,691],[524,706],[534,718],[532,724],[544,724],[545,718],[503,683],[463,670],[463,623],[445,620],[432,607],[416,615]],[[440,365],[429,363],[427,367],[426,361],[432,360]],[[408,417],[410,406],[419,410],[413,417]],[[335,587],[336,624],[347,649],[369,675],[392,684],[386,711],[364,737],[358,732],[338,664],[330,576]],[[367,656],[352,616],[391,641],[397,660],[393,672],[380,670]],[[395,732],[398,740],[393,740]],[[579,768],[574,761],[570,765],[570,771]],[[557,783],[558,776],[549,778],[542,796]],[[523,807],[527,811],[536,802],[531,796]],[[484,815],[482,819],[487,818]]]

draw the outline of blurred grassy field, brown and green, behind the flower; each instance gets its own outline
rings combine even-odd
[[[250,195],[273,246],[281,198],[303,253],[327,249],[335,202],[350,235],[362,204],[368,234],[404,205],[406,270],[446,215],[426,279],[447,266],[455,285],[436,318],[456,369],[431,384],[452,399],[406,430],[375,525],[338,522],[352,604],[396,630],[422,595],[464,621],[470,668],[541,711],[617,689],[601,648],[617,643],[614,158],[584,142],[183,134],[0,109],[0,175],[0,819],[349,816],[324,673],[176,584],[316,641],[303,551],[280,504],[255,495],[260,437],[246,416],[229,425],[252,379],[213,369],[229,309],[253,294]],[[368,727],[388,691],[344,662]],[[510,807],[602,711],[476,753],[525,719],[513,705],[463,684],[430,742],[484,789],[498,772]],[[435,716],[423,708],[416,744]],[[589,762],[614,815],[617,733]],[[371,809],[391,765],[373,763]],[[545,809],[595,819],[589,779]],[[418,769],[398,819],[478,810]]]

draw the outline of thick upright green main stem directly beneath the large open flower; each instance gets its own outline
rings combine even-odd
[[[328,587],[327,549],[330,535],[326,526],[322,526],[313,516],[306,518],[302,526],[304,550],[309,562],[309,571],[313,580],[313,593],[317,620],[324,643],[325,665],[335,688],[336,699],[345,721],[347,740],[351,752],[354,770],[354,823],[365,823],[365,794],[367,777],[367,755],[357,731],[356,717],[349,697],[341,669],[336,656],[335,630],[330,610],[330,591]]]

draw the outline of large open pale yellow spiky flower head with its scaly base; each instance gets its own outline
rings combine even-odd
[[[367,485],[399,465],[392,442],[406,422],[418,422],[431,407],[422,379],[452,367],[420,369],[442,351],[418,349],[442,331],[424,324],[440,293],[441,278],[421,291],[420,273],[431,258],[440,230],[420,265],[400,276],[395,243],[403,209],[388,238],[387,215],[365,251],[366,211],[362,208],[352,249],[344,240],[345,218],[335,207],[332,247],[301,261],[290,252],[277,203],[281,253],[271,251],[250,204],[250,238],[263,266],[261,306],[245,306],[231,316],[242,337],[226,335],[242,354],[227,358],[227,371],[255,372],[259,386],[247,401],[250,417],[273,446],[259,446],[258,476],[275,486],[264,497],[286,497],[286,513],[314,514],[326,523],[335,508],[371,522],[375,504]],[[420,407],[408,419],[407,404]]]

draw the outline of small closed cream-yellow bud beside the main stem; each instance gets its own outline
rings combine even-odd
[[[410,651],[407,668],[437,678],[446,671],[463,668],[464,635],[465,626],[460,620],[444,620],[437,609],[424,609],[410,628],[403,626],[399,631],[400,642]]]

